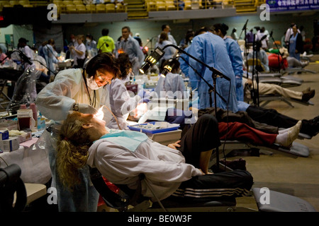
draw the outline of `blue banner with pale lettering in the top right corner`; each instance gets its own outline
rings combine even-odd
[[[270,12],[319,9],[319,0],[266,0]]]

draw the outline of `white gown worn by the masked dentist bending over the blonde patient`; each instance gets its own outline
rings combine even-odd
[[[89,88],[91,100],[94,98],[94,90]],[[38,93],[36,105],[47,119],[62,121],[67,118],[69,110],[74,102],[90,104],[89,95],[86,90],[82,69],[67,69],[60,71],[55,76],[55,81],[45,85]],[[106,105],[109,109],[110,100],[108,90],[105,87],[96,90],[96,109]],[[103,107],[104,121],[106,124],[111,120],[111,112]]]

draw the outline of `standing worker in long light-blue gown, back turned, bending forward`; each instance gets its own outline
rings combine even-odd
[[[216,93],[216,105],[213,103],[213,106],[237,112],[235,74],[224,40],[218,35],[214,35],[213,29],[207,29],[203,34],[194,37],[189,48],[189,54],[230,78],[230,81],[225,78],[216,78],[216,92],[219,95]],[[210,69],[191,59],[191,57],[189,58],[189,63],[208,83],[213,85],[213,72]],[[189,70],[191,70],[189,74],[194,73],[191,67],[189,67]],[[210,105],[210,95],[214,101],[214,93],[209,93],[208,89],[206,82],[201,79],[198,86],[199,109],[212,107]]]

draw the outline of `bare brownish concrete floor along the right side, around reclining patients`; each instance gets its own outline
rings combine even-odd
[[[316,63],[316,60],[318,62]],[[296,78],[302,78],[303,84],[291,88],[302,91],[310,87],[315,89],[316,95],[311,99],[314,105],[301,105],[292,102],[290,107],[285,102],[276,100],[269,102],[265,107],[276,109],[281,114],[286,114],[295,119],[313,119],[319,115],[319,56],[315,55],[306,69],[317,73],[293,74]],[[261,103],[262,104],[262,103]],[[256,156],[242,156],[246,160],[247,170],[254,177],[253,187],[267,187],[273,191],[296,196],[308,201],[319,211],[319,135],[296,142],[308,146],[308,157],[287,157],[281,154]],[[241,156],[229,157],[228,160]],[[237,206],[257,209],[254,196],[237,198]]]

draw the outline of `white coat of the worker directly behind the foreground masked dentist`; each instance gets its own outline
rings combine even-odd
[[[111,84],[106,85],[108,93],[110,94],[110,105],[111,111],[118,119],[118,124],[121,126],[121,129],[128,129],[128,114],[137,106],[137,99],[134,95],[130,96],[128,90],[126,89],[123,81],[121,79],[114,79]],[[109,124],[108,128],[119,129],[116,119],[113,117]]]

